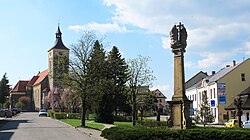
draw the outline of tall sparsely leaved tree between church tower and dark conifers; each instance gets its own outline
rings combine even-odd
[[[76,44],[71,45],[71,59],[69,62],[68,87],[80,96],[81,121],[80,125],[85,127],[85,115],[91,93],[88,91],[87,62],[90,58],[96,36],[93,32],[85,31],[83,37]]]

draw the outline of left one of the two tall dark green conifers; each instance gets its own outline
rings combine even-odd
[[[95,121],[113,123],[113,95],[110,92],[113,79],[108,77],[105,51],[97,40],[87,65],[90,92],[93,93]]]

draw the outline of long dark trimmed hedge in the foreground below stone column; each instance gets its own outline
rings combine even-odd
[[[192,128],[174,130],[166,127],[112,127],[102,131],[108,140],[242,140],[250,138],[249,129]]]

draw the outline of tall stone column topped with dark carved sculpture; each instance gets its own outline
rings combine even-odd
[[[191,126],[190,101],[185,94],[184,52],[187,46],[187,32],[183,24],[174,25],[170,32],[171,48],[174,53],[174,95],[168,101],[171,116],[168,126],[186,129]]]

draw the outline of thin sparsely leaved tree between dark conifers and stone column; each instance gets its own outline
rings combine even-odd
[[[128,85],[130,88],[129,96],[132,105],[133,126],[137,118],[137,96],[138,86],[150,85],[155,79],[153,71],[148,66],[149,57],[139,55],[138,58],[128,61],[129,78]]]

